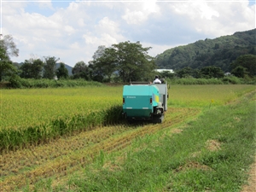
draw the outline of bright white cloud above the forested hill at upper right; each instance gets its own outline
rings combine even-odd
[[[195,26],[197,32],[210,36],[228,35],[255,27],[255,5],[248,2],[203,2],[172,3],[170,8]]]

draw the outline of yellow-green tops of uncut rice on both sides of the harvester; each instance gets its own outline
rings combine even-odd
[[[191,107],[230,102],[253,85],[171,85],[169,105]],[[40,125],[51,119],[88,114],[121,105],[122,87],[1,90],[0,130]]]

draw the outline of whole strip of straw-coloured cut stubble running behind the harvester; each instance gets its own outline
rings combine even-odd
[[[109,153],[125,148],[137,137],[143,137],[145,134],[178,124],[184,119],[195,117],[200,112],[195,108],[171,108],[168,113],[171,111],[172,120],[171,117],[168,117],[161,125],[145,125],[137,129],[134,129],[133,126],[121,127],[118,125],[102,127],[94,131],[83,132],[79,136],[63,138],[45,146],[26,149],[24,152],[17,150],[11,154],[3,154],[0,164],[5,166],[1,167],[3,172],[1,172],[0,188],[12,191],[15,187],[25,186],[26,183],[30,183],[32,187],[40,178],[53,175],[61,177],[87,165],[100,151]],[[173,113],[176,115],[174,116]],[[56,143],[58,146],[54,147]],[[24,164],[16,165],[16,170],[12,168],[15,166],[12,164],[14,159],[16,162],[25,162],[26,158],[31,162],[29,166]],[[9,174],[9,172],[13,172],[13,174]]]

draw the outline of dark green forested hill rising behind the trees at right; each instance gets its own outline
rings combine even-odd
[[[155,57],[158,68],[181,69],[183,67],[221,67],[230,71],[230,63],[240,55],[256,55],[256,29],[235,32],[220,38],[196,41],[194,44],[167,49]]]

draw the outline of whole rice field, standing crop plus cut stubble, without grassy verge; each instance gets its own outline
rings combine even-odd
[[[156,141],[166,134],[180,133],[183,131],[180,127],[186,127],[205,113],[255,92],[254,85],[245,84],[171,85],[162,124],[130,125],[120,119],[122,88],[0,90],[0,190],[150,191],[148,188],[97,188],[99,185],[93,188],[92,181],[96,180],[92,177],[98,177],[97,167],[107,167],[110,172],[123,169],[111,162],[124,163],[130,154],[141,151],[148,143],[159,145]],[[255,99],[254,94],[250,101]],[[240,121],[238,114],[236,120]],[[131,146],[137,147],[131,152]],[[84,176],[84,170],[90,170],[91,177]],[[88,178],[91,186],[78,183],[75,176]],[[151,191],[183,191],[167,185],[155,185]]]

